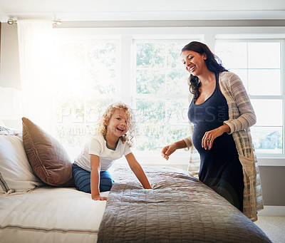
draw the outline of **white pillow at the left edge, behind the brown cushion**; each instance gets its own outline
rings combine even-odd
[[[28,192],[43,182],[33,174],[17,135],[0,135],[0,193]]]

